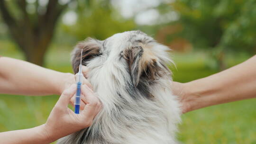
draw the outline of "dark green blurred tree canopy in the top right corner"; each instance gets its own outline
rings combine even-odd
[[[256,52],[256,0],[176,0],[182,36],[196,48]]]

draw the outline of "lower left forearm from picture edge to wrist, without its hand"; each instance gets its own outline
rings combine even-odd
[[[1,144],[49,144],[55,139],[49,138],[44,125],[0,133]]]

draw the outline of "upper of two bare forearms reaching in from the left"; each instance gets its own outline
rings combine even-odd
[[[56,72],[32,63],[0,57],[0,93],[20,95],[60,94],[61,82],[72,74]]]

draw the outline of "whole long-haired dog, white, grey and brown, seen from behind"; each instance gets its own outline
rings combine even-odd
[[[175,144],[179,103],[172,94],[165,63],[169,48],[141,31],[128,31],[104,41],[88,38],[76,45],[73,70],[82,64],[103,108],[92,126],[58,144]]]

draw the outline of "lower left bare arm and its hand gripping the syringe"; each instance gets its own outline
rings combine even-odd
[[[0,133],[1,144],[49,144],[57,139],[91,126],[93,118],[101,110],[101,103],[94,92],[82,85],[82,99],[86,105],[80,114],[69,109],[68,103],[76,91],[76,85],[64,90],[50,113],[46,124],[29,129]]]

